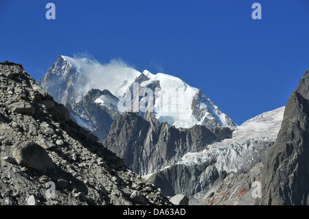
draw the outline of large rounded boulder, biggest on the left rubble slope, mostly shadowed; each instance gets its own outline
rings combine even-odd
[[[13,151],[13,157],[21,166],[46,171],[54,169],[54,163],[47,152],[35,143],[19,146]]]

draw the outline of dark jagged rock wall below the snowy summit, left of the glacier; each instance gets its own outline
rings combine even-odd
[[[177,129],[160,123],[150,113],[146,119],[137,113],[124,113],[111,126],[103,146],[122,157],[137,174],[157,172],[179,161],[186,152],[207,148],[216,139],[230,137],[229,128],[211,132],[205,126]]]

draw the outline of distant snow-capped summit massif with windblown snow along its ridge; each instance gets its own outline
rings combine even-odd
[[[58,56],[38,84],[69,108],[73,120],[100,140],[107,136],[115,117],[126,111],[144,117],[151,112],[159,122],[176,128],[236,126],[199,89],[180,78],[147,70],[141,73],[118,61],[101,65],[88,58]],[[94,95],[93,89],[105,91]],[[87,96],[91,96],[91,102],[84,99]]]

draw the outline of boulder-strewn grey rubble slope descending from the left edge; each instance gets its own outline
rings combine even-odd
[[[0,133],[1,205],[168,203],[12,62],[0,63]]]

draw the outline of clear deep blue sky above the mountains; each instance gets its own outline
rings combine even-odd
[[[0,23],[0,61],[36,80],[59,54],[121,58],[201,89],[237,124],[284,106],[309,69],[308,0],[0,0]]]

